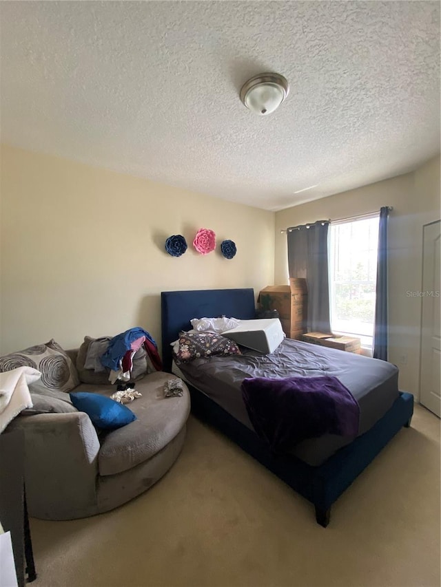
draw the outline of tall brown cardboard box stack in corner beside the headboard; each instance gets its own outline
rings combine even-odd
[[[307,289],[305,279],[290,279],[289,286],[267,286],[260,290],[260,310],[277,310],[283,332],[298,338],[306,332]],[[300,332],[301,331],[301,332]]]

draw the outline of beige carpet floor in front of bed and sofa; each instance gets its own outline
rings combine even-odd
[[[438,587],[440,420],[416,406],[331,524],[193,417],[150,491],[85,520],[31,520],[35,587]]]

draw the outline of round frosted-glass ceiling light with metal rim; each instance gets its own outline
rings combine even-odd
[[[289,84],[280,74],[258,74],[244,83],[240,100],[258,114],[267,116],[274,112],[289,93]]]

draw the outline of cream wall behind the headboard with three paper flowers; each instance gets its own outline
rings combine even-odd
[[[0,186],[2,354],[134,325],[160,343],[161,290],[274,282],[272,212],[4,145]],[[201,227],[236,257],[198,255]],[[189,248],[174,258],[164,243],[178,233]]]

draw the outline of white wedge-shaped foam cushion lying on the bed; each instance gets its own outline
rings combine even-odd
[[[236,328],[222,333],[238,345],[257,350],[263,354],[274,352],[285,338],[278,318],[240,320]]]

